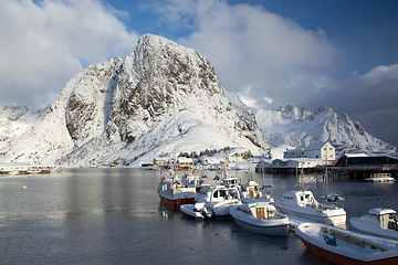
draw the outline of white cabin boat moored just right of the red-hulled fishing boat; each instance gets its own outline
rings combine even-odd
[[[196,203],[180,206],[180,211],[196,219],[230,216],[232,205],[242,204],[237,187],[203,187],[196,197]]]

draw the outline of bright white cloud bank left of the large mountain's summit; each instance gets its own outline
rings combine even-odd
[[[45,98],[85,64],[127,55],[138,35],[96,0],[0,1],[0,88],[8,99],[39,107],[23,96]],[[41,96],[39,96],[41,95]],[[52,98],[53,99],[53,98]],[[1,99],[0,104],[8,104]]]

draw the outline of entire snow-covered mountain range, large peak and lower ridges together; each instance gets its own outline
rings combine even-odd
[[[151,34],[126,57],[76,74],[46,109],[0,108],[6,162],[138,166],[180,152],[238,147],[255,155],[320,140],[342,151],[396,150],[328,108],[311,113],[287,105],[254,116],[221,87],[206,57]]]

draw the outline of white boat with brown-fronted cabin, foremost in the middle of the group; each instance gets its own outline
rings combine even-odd
[[[230,213],[237,224],[254,233],[287,236],[289,218],[280,214],[271,202],[233,205]]]

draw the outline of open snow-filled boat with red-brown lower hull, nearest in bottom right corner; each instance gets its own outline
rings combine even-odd
[[[295,233],[314,255],[333,264],[398,264],[398,243],[321,223],[302,223]]]

